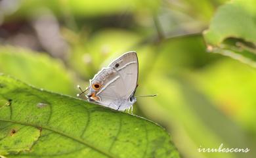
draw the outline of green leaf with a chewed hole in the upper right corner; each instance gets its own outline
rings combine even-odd
[[[256,68],[256,5],[235,0],[219,7],[204,31],[207,49]]]

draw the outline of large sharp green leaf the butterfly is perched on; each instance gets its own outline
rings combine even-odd
[[[0,75],[0,85],[5,104],[0,106],[0,155],[179,157],[156,123],[35,89],[5,75]]]

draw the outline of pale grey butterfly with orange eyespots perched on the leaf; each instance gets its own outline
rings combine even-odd
[[[89,102],[94,102],[119,111],[133,108],[136,102],[135,92],[138,83],[138,57],[136,52],[126,52],[114,60],[107,68],[102,68],[93,79],[90,86],[81,90]],[[155,96],[155,95],[152,95]]]

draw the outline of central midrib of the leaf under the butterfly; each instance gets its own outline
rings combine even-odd
[[[68,137],[68,138],[70,138],[72,140],[75,140],[76,142],[84,144],[85,146],[88,146],[89,148],[95,149],[96,151],[98,151],[99,153],[102,153],[103,155],[106,155],[107,157],[119,158],[119,157],[117,157],[117,155],[112,155],[111,153],[108,153],[108,152],[104,151],[103,149],[96,148],[96,146],[94,146],[93,144],[85,142],[84,140],[81,140],[79,138],[75,138],[73,136],[65,134],[64,132],[60,132],[60,131],[55,130],[53,128],[48,128],[48,127],[44,127],[44,126],[37,126],[37,125],[33,125],[31,123],[22,123],[22,122],[19,122],[19,121],[12,121],[12,120],[7,120],[7,119],[0,119],[0,121],[5,121],[5,122],[9,122],[9,123],[18,123],[20,125],[28,125],[28,126],[31,126],[31,127],[42,128],[42,129],[45,129],[45,130],[51,130],[52,132],[56,132],[56,133],[58,133],[58,134],[60,134],[62,136],[66,136],[66,137]]]

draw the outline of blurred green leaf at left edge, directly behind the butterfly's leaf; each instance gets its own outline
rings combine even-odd
[[[72,77],[59,60],[16,47],[0,47],[0,72],[41,89],[74,94]]]

